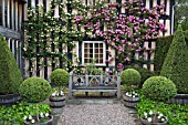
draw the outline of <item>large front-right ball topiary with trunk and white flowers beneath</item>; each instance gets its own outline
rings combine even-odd
[[[157,102],[155,111],[139,116],[142,123],[145,125],[166,125],[168,117],[158,112],[158,106],[160,106],[159,102],[167,102],[177,94],[174,82],[165,76],[152,76],[144,82],[142,92],[145,97]]]

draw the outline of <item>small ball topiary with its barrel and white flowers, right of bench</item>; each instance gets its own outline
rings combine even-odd
[[[121,74],[123,85],[128,86],[127,92],[123,94],[124,105],[127,107],[135,107],[137,102],[139,102],[138,93],[133,90],[133,86],[138,86],[140,77],[139,72],[134,69],[127,69]]]

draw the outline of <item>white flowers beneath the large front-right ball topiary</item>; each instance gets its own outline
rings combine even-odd
[[[160,112],[157,112],[156,115],[157,119],[155,119],[155,123],[164,123],[168,121],[168,118],[164,116],[164,114]],[[144,112],[144,114],[142,114],[142,118],[147,121],[148,123],[154,123],[154,117],[155,113],[153,111],[149,111],[148,113]]]

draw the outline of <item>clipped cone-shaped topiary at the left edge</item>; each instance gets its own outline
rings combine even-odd
[[[0,94],[19,93],[22,82],[15,59],[7,45],[6,38],[0,38]]]

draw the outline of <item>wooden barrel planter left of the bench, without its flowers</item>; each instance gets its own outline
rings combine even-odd
[[[54,108],[63,107],[65,105],[65,98],[66,96],[50,96],[50,106]]]

